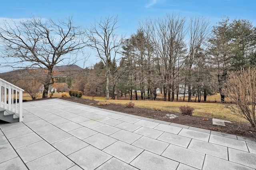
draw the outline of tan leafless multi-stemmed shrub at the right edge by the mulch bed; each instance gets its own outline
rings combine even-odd
[[[231,72],[226,84],[224,95],[234,103],[227,104],[228,109],[256,128],[256,68]]]

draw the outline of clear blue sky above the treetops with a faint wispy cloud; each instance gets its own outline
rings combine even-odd
[[[212,24],[223,15],[230,19],[242,18],[256,25],[256,0],[3,0],[0,19],[64,18],[73,16],[77,25],[90,25],[108,15],[118,15],[120,33],[129,37],[136,33],[138,21],[144,18],[164,17],[167,13],[187,18],[204,16]],[[95,58],[88,63],[93,64]],[[3,72],[0,68],[0,72]]]

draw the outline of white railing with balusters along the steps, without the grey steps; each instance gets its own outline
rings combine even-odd
[[[23,91],[23,89],[0,78],[0,107],[14,112],[19,117],[19,121],[22,121]]]

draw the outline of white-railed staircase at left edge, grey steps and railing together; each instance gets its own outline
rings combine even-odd
[[[22,92],[24,90],[0,78],[0,120],[22,121]]]

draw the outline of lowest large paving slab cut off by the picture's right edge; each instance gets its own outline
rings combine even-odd
[[[228,148],[228,158],[231,162],[235,162],[256,169],[256,154]]]

